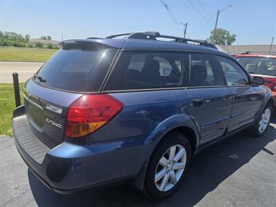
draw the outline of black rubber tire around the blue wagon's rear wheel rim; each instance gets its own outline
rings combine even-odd
[[[175,186],[170,188],[170,190],[160,191],[155,185],[155,172],[157,170],[159,160],[171,146],[175,146],[178,144],[183,146],[186,150],[186,164],[185,164],[183,174],[181,175],[181,177],[179,178]],[[148,197],[152,199],[164,199],[172,195],[172,193],[174,193],[175,190],[181,184],[181,181],[183,181],[184,176],[188,170],[190,160],[191,160],[191,148],[190,148],[190,143],[188,139],[186,139],[186,137],[184,137],[184,135],[182,135],[181,133],[176,133],[176,132],[166,135],[166,137],[164,137],[164,139],[159,143],[155,151],[152,153],[150,163],[148,165],[148,172],[146,175],[146,192]]]

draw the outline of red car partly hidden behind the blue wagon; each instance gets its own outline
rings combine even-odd
[[[242,63],[252,77],[259,76],[266,79],[264,85],[273,91],[274,106],[276,106],[276,53],[246,52],[235,58]]]

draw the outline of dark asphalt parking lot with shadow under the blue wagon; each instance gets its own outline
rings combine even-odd
[[[0,137],[0,206],[276,206],[276,118],[264,137],[241,132],[201,152],[164,201],[129,186],[59,195],[32,175],[12,138]]]

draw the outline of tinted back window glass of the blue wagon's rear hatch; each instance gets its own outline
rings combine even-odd
[[[33,79],[43,86],[61,90],[96,92],[116,52],[116,48],[99,47],[61,49],[37,72],[43,81]]]

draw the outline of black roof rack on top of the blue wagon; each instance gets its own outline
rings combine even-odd
[[[157,38],[173,39],[172,41],[179,42],[179,43],[193,42],[193,43],[198,43],[199,46],[207,46],[209,48],[217,49],[213,44],[208,43],[206,40],[175,37],[175,36],[160,34],[159,32],[132,32],[132,33],[114,34],[106,37],[106,39],[112,39],[112,38],[121,37],[121,36],[126,36],[125,39],[151,39],[151,40],[157,40]]]

